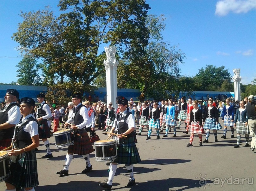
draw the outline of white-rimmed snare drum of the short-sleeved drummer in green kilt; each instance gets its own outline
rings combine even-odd
[[[116,159],[116,140],[98,140],[94,145],[96,161],[112,161]]]

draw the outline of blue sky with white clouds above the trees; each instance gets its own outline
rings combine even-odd
[[[19,45],[11,40],[17,31],[20,10],[43,9],[50,5],[59,15],[58,0],[1,0],[0,82],[16,81]],[[207,64],[225,66],[233,75],[240,68],[243,84],[256,77],[256,0],[146,0],[149,14],[164,14],[165,41],[178,45],[185,55],[181,75],[194,76]],[[104,48],[102,46],[102,51]]]

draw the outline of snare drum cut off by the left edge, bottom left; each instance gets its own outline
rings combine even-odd
[[[5,181],[11,175],[9,164],[10,157],[7,152],[0,152],[0,182]]]

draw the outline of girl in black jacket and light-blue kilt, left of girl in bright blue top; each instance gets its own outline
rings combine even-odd
[[[149,126],[148,126],[148,137],[146,140],[151,139],[150,135],[152,133],[152,128],[155,128],[156,130],[156,134],[157,134],[157,139],[160,139],[159,136],[159,128],[160,128],[160,121],[159,121],[159,117],[160,117],[160,110],[157,107],[157,103],[154,102],[153,103],[153,108],[150,112],[150,120],[149,120]]]

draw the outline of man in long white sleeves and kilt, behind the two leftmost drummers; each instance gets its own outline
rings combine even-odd
[[[52,117],[51,110],[48,104],[45,103],[45,95],[43,93],[40,93],[37,95],[37,101],[39,102],[38,108],[37,108],[37,121],[39,123],[38,128],[38,134],[39,138],[43,140],[43,144],[46,147],[46,155],[44,155],[41,158],[51,158],[52,153],[50,149],[49,140],[47,138],[50,138],[50,123],[51,121],[47,120]]]

